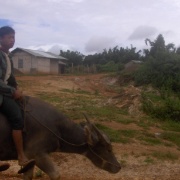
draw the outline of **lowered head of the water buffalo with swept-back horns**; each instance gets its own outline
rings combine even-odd
[[[92,124],[86,115],[87,123],[84,127],[89,151],[86,156],[97,166],[108,172],[117,173],[121,166],[117,161],[112,145],[106,134]]]

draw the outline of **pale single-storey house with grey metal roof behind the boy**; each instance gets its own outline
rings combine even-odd
[[[26,74],[63,74],[67,59],[50,52],[16,48],[12,52],[15,70]]]

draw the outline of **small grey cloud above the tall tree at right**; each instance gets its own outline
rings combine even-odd
[[[133,33],[129,36],[129,40],[144,40],[149,38],[157,33],[157,29],[155,27],[150,26],[139,26],[137,27]]]

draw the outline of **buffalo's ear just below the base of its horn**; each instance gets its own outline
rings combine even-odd
[[[89,145],[94,146],[99,141],[97,134],[93,133],[88,125],[84,126],[84,132]]]

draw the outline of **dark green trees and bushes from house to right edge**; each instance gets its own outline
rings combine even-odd
[[[121,73],[124,78],[133,80],[136,86],[143,86],[143,110],[160,119],[180,121],[180,47],[173,43],[165,44],[160,34],[151,41],[145,40],[148,49],[137,51],[131,48],[114,47],[102,53],[84,56],[80,52],[60,51],[69,59],[69,72],[123,72],[131,60],[143,63],[135,72]],[[155,91],[148,91],[152,86]]]

